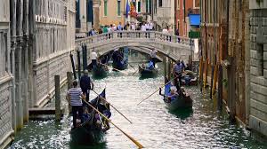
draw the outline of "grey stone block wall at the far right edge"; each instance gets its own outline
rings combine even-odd
[[[251,129],[267,136],[267,3],[250,1]]]

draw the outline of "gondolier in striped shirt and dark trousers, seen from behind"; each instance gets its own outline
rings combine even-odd
[[[81,123],[84,122],[83,116],[83,103],[82,99],[85,99],[83,91],[81,88],[77,88],[77,81],[72,82],[73,88],[67,91],[67,100],[72,106],[72,116],[73,116],[73,127],[77,127],[77,118],[81,120]],[[78,115],[78,117],[77,117]]]

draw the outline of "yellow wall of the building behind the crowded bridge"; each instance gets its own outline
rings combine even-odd
[[[107,1],[108,5],[108,14],[104,16],[104,1]],[[120,16],[117,16],[117,0],[101,0],[101,12],[100,12],[100,24],[101,26],[115,24],[118,25],[119,22],[122,25],[125,24],[125,2],[126,0],[120,1]]]

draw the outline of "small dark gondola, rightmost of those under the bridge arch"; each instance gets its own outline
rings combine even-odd
[[[158,69],[153,66],[153,63],[150,61],[148,67],[139,66],[139,73],[142,77],[154,77],[158,75]]]

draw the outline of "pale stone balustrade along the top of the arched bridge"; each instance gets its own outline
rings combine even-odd
[[[107,43],[111,41],[121,41],[122,39],[138,40],[145,39],[151,42],[177,43],[190,45],[190,38],[168,35],[157,31],[115,31],[101,35],[93,35],[85,38],[77,39],[76,45]]]

